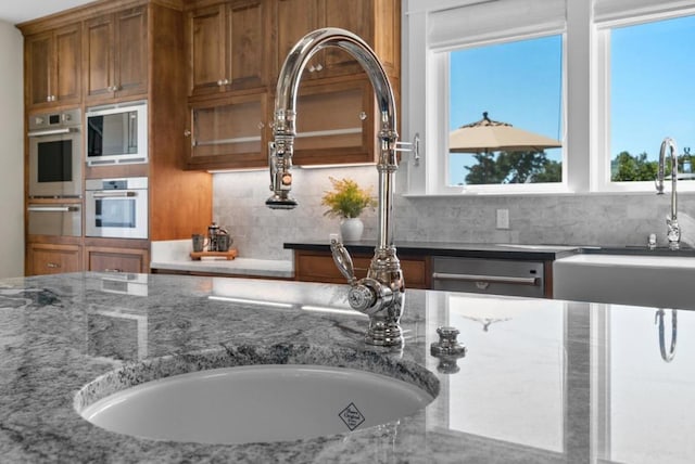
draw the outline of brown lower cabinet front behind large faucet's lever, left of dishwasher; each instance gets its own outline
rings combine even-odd
[[[355,275],[362,279],[374,254],[352,254]],[[406,288],[429,288],[429,258],[426,256],[399,256]],[[340,273],[330,252],[294,250],[294,279],[302,282],[326,282],[344,284],[345,278]]]

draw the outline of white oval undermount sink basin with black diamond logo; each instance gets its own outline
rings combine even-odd
[[[350,433],[410,415],[432,399],[406,382],[365,371],[265,364],[147,382],[80,414],[141,438],[238,444]]]

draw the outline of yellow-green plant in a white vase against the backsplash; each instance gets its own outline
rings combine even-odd
[[[352,179],[336,179],[329,177],[333,190],[325,192],[321,205],[328,206],[324,216],[341,218],[340,234],[344,242],[356,242],[362,239],[364,223],[359,215],[365,208],[374,209],[377,201],[371,195],[371,189],[362,189]]]

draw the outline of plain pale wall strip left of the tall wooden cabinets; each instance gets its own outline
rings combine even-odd
[[[24,275],[22,34],[0,21],[0,278]]]

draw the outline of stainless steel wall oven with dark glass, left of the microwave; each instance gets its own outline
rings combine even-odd
[[[79,108],[29,116],[29,197],[80,197],[81,112]]]

